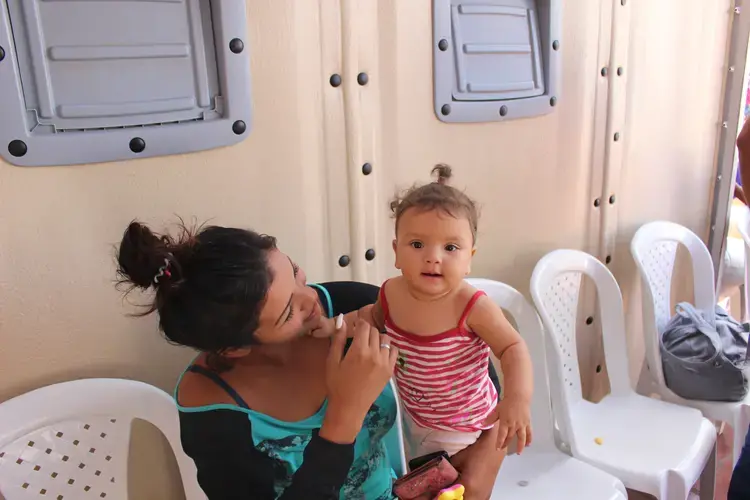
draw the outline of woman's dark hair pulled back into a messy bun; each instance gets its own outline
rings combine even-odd
[[[208,353],[218,369],[223,352],[256,343],[275,247],[273,237],[243,229],[180,224],[174,238],[131,222],[117,253],[119,284],[128,292],[153,288],[152,302],[137,315],[157,311],[168,340]]]

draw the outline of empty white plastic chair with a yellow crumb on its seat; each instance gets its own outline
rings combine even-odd
[[[575,325],[583,275],[598,292],[611,387],[599,403],[581,393]],[[563,446],[658,499],[688,498],[705,467],[701,498],[713,500],[716,429],[698,410],[631,388],[622,296],[609,270],[586,253],[556,250],[536,265],[531,293],[548,335],[552,407]]]

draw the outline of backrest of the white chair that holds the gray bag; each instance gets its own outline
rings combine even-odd
[[[659,336],[672,317],[672,274],[678,245],[683,245],[690,254],[695,307],[713,311],[716,306],[714,265],[708,248],[695,233],[673,222],[656,221],[641,226],[630,242],[630,252],[642,282],[646,361],[661,386],[665,386],[665,381]]]

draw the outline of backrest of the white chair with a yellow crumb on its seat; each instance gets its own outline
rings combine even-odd
[[[576,316],[582,276],[593,282],[599,297],[604,357],[612,395],[632,392],[628,374],[627,341],[622,295],[614,276],[591,255],[578,250],[555,250],[537,263],[531,276],[531,295],[548,336],[547,360],[555,419],[571,446],[574,434],[570,411],[583,400],[576,346]]]

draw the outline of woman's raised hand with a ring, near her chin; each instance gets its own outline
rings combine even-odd
[[[328,353],[328,409],[320,436],[344,444],[354,442],[365,415],[393,375],[398,350],[369,323],[358,320],[351,325],[354,340],[344,356],[347,326],[342,319],[337,318],[341,326]]]

